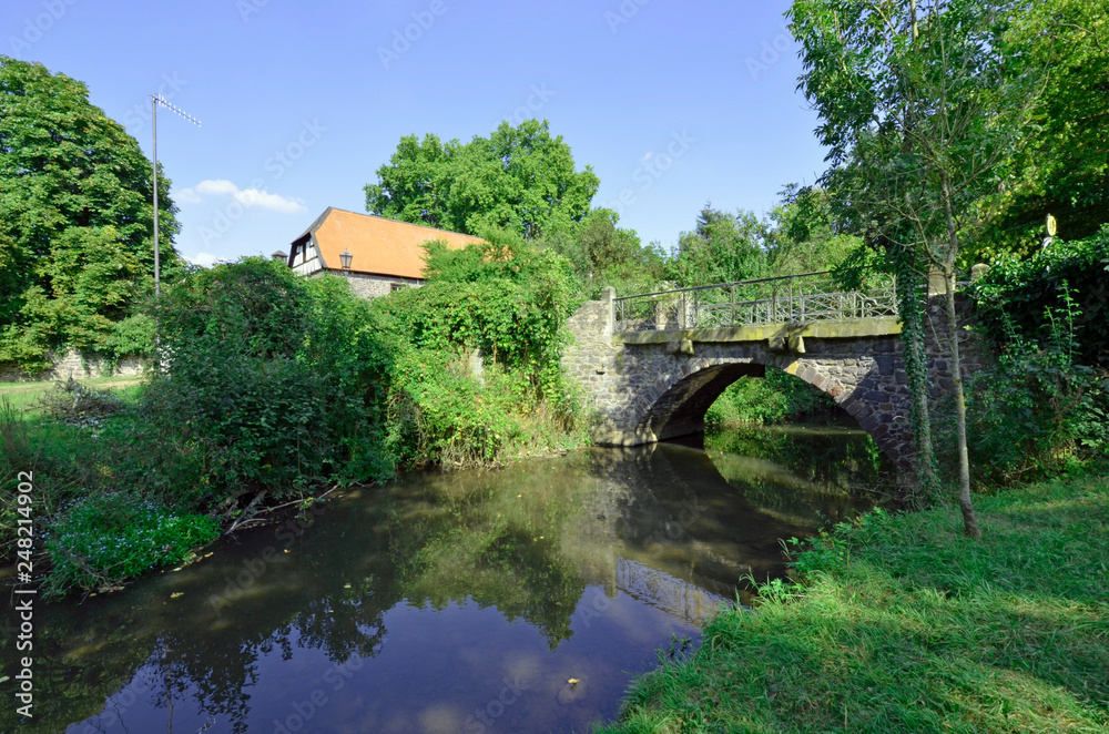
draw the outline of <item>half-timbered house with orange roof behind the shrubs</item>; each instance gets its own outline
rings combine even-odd
[[[293,241],[286,263],[305,277],[324,273],[345,277],[356,295],[376,298],[421,285],[423,245],[435,239],[451,249],[482,242],[458,232],[328,206]]]

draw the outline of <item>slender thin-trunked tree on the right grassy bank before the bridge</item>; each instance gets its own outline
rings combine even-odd
[[[955,268],[1039,91],[1031,70],[1010,70],[1007,19],[1021,9],[1008,0],[796,0],[790,11],[803,45],[801,86],[841,166],[841,193],[868,228],[946,281],[959,506],[974,538]]]

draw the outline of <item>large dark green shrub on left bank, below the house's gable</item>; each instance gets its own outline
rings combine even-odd
[[[134,438],[151,444],[145,483],[162,497],[201,508],[243,489],[388,476],[389,353],[346,283],[250,258],[177,284],[156,316],[160,369]]]

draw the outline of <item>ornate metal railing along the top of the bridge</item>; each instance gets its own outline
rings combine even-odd
[[[859,290],[838,290],[831,271],[679,288],[613,302],[618,333],[754,324],[803,324],[897,315],[892,275],[871,272]]]

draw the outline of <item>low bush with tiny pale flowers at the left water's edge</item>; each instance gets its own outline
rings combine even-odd
[[[218,534],[218,523],[210,517],[176,513],[132,493],[81,499],[47,532],[51,569],[43,593],[61,597],[179,563]]]

